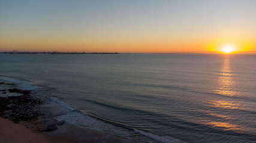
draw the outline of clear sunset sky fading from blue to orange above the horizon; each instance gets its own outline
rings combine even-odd
[[[0,51],[256,51],[254,0],[1,1]]]

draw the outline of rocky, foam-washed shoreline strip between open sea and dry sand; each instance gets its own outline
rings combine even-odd
[[[79,142],[181,142],[74,110],[67,102],[46,92],[49,90],[46,87],[23,80],[1,79],[0,88],[0,117],[32,131]]]

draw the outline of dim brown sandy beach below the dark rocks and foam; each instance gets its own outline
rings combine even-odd
[[[67,137],[68,138],[67,138]],[[109,133],[97,132],[95,130],[82,129],[77,127],[71,127],[70,130],[66,130],[62,135],[51,136],[44,132],[37,132],[27,129],[25,126],[17,123],[13,123],[8,119],[0,117],[0,142],[134,142],[129,139],[119,138]]]

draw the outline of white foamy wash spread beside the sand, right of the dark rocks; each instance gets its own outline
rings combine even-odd
[[[120,126],[113,125],[112,123],[105,122],[104,120],[97,119],[95,117],[90,116],[89,114],[85,114],[81,111],[71,111],[67,114],[62,114],[61,116],[55,117],[57,120],[65,120],[70,125],[78,126],[80,128],[92,129],[97,130],[100,132],[107,132],[113,135],[118,135],[124,138],[130,138],[132,132],[140,133],[142,136],[146,136],[147,138],[152,139],[152,141],[148,142],[164,142],[164,143],[180,143],[178,139],[171,138],[170,136],[159,136],[154,133],[145,132],[143,130],[129,130],[126,128],[122,128]],[[155,141],[153,141],[155,140]]]

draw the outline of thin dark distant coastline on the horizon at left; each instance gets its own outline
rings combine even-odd
[[[118,52],[0,52],[0,54],[120,54]]]

